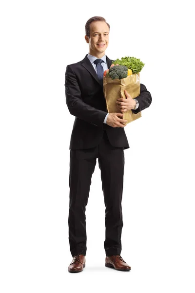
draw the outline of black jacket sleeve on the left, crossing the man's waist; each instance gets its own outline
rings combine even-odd
[[[65,72],[66,105],[71,115],[78,117],[92,125],[103,127],[107,112],[98,110],[82,101],[77,77],[70,65]]]

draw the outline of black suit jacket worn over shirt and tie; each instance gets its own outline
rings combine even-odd
[[[108,68],[112,60],[106,56]],[[106,130],[112,146],[129,148],[128,140],[123,127],[112,127],[103,123],[106,114],[106,101],[103,86],[87,54],[78,63],[67,65],[65,72],[66,105],[75,116],[69,149],[86,149],[98,146],[103,131]],[[149,107],[152,102],[150,92],[144,84],[140,84],[138,113]]]

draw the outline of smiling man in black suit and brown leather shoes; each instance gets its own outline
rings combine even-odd
[[[106,207],[105,266],[119,271],[131,270],[120,255],[124,149],[129,148],[123,112],[129,109],[134,113],[142,111],[149,107],[152,97],[145,85],[140,84],[140,95],[136,99],[126,91],[127,99],[119,97],[118,107],[122,113],[108,113],[102,81],[104,70],[112,63],[105,55],[109,31],[110,25],[104,18],[89,19],[85,25],[89,53],[82,61],[67,65],[65,72],[66,104],[76,117],[70,141],[68,225],[73,260],[69,272],[81,272],[85,267],[85,208],[97,158]]]

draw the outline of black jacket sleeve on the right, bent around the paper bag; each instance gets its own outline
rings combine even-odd
[[[138,112],[148,108],[152,103],[151,93],[147,90],[144,84],[140,84],[140,94],[135,99],[137,99],[139,106],[136,110],[132,110],[133,113],[137,114]]]

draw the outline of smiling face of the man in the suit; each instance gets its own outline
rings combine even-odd
[[[89,43],[89,54],[101,58],[109,42],[109,27],[104,21],[93,21],[90,24],[90,37],[85,36]]]

